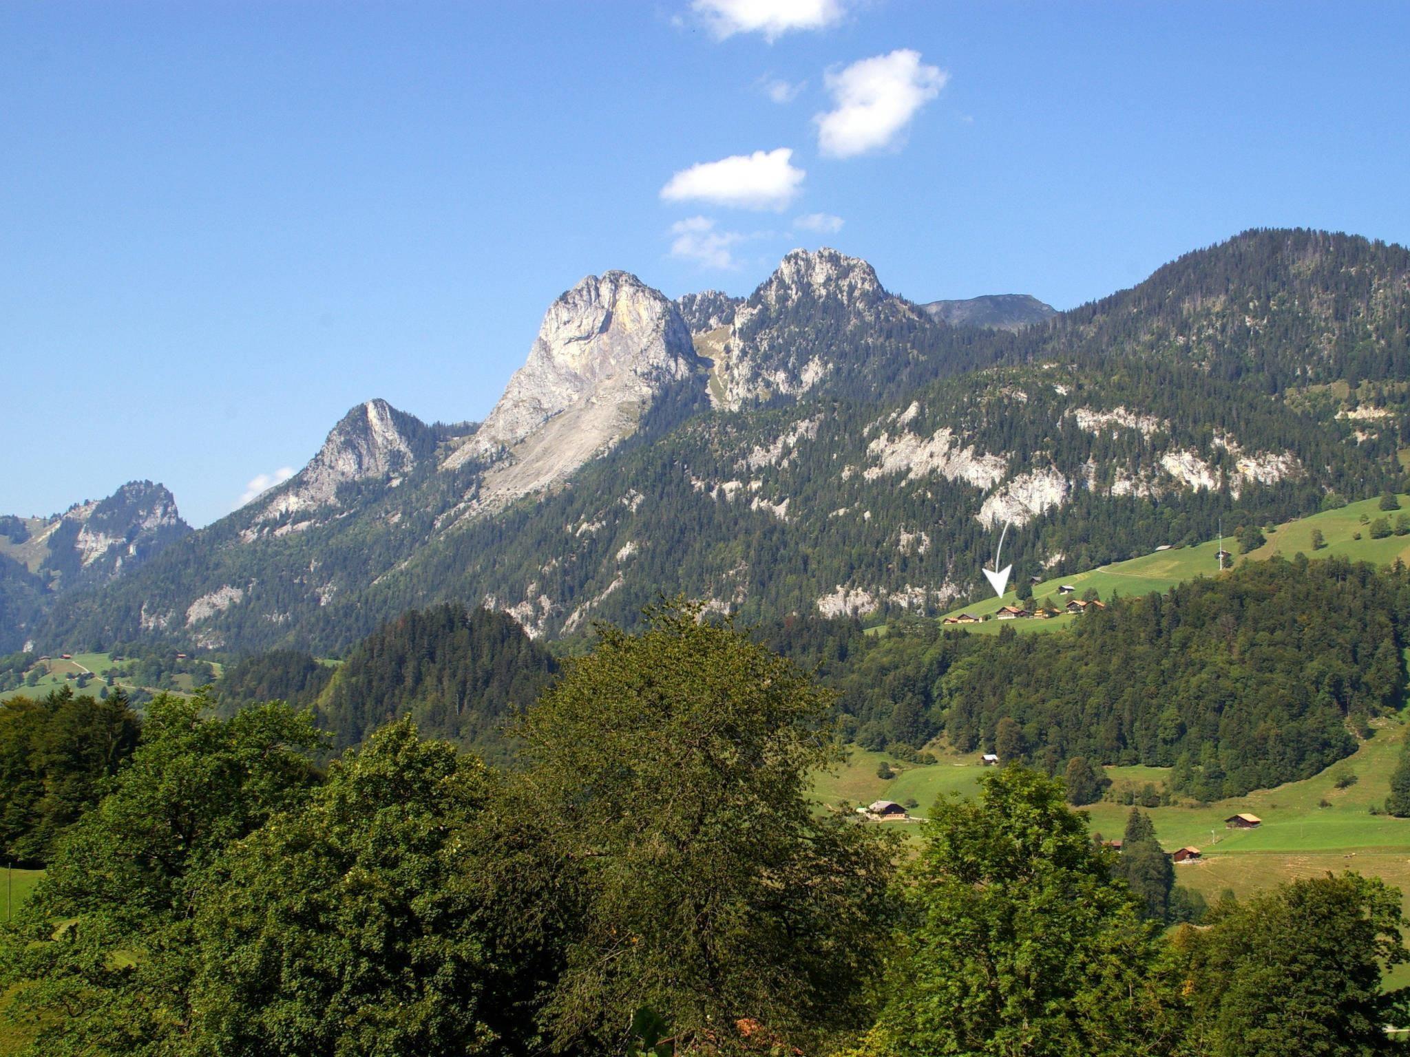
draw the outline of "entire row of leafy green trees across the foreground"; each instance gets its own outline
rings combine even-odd
[[[942,799],[902,854],[808,796],[838,758],[829,695],[699,617],[601,629],[508,772],[406,719],[324,771],[309,713],[155,699],[0,930],[10,1037],[34,1057],[1397,1051],[1394,889],[1328,875],[1166,927],[1180,889],[1149,817],[1118,865],[1022,764]]]

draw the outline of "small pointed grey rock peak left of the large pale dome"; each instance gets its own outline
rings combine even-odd
[[[333,427],[319,454],[275,489],[272,499],[254,500],[264,503],[255,520],[269,521],[336,506],[338,485],[406,474],[431,454],[434,444],[430,427],[415,416],[396,410],[386,400],[368,400]]]

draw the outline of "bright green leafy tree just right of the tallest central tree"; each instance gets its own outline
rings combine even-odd
[[[1155,926],[1062,784],[1024,767],[980,782],[977,799],[936,803],[907,889],[915,926],[862,1053],[1169,1051],[1179,1022]]]

